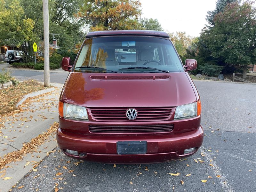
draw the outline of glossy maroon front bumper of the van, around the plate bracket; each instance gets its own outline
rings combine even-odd
[[[191,156],[203,143],[204,131],[200,126],[198,129],[175,134],[166,135],[130,135],[120,137],[117,135],[100,136],[86,135],[66,132],[60,128],[56,134],[60,149],[70,157],[94,161],[99,163],[116,164],[145,164],[160,163],[172,159]],[[117,141],[146,140],[147,153],[140,155],[118,155],[116,153]],[[196,150],[183,154],[184,149],[194,148]],[[68,154],[65,149],[84,153],[84,157]]]

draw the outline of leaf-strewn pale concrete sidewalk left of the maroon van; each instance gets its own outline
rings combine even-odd
[[[1,127],[2,136],[0,137],[0,156],[12,151],[20,150],[23,143],[31,141],[42,132],[46,132],[51,124],[58,122],[58,102],[63,84],[54,84],[55,90],[44,95],[39,95],[32,100],[25,100],[22,106],[22,112],[13,116],[4,117]],[[6,164],[0,172],[6,169],[5,175],[0,179],[0,192],[8,191],[18,182],[26,173],[28,173],[36,162],[40,162],[54,148],[57,143],[55,133],[48,140],[45,140],[37,152],[28,153],[21,161]],[[25,166],[27,162],[31,162]],[[34,164],[34,165],[33,165]],[[4,173],[4,172],[3,172]],[[0,173],[0,176],[3,174]],[[12,177],[9,180],[3,180],[5,177]]]

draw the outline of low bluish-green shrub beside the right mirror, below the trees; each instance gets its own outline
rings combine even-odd
[[[198,72],[205,76],[218,76],[223,68],[219,65],[204,63],[198,66]]]

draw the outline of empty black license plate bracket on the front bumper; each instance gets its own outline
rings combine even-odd
[[[147,141],[117,141],[116,151],[118,155],[146,154]]]

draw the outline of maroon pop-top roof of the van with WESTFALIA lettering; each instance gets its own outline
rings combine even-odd
[[[92,31],[87,33],[86,38],[96,36],[115,36],[115,35],[135,35],[135,36],[158,36],[169,38],[170,36],[164,31],[149,31],[149,30],[107,30],[107,31]]]

